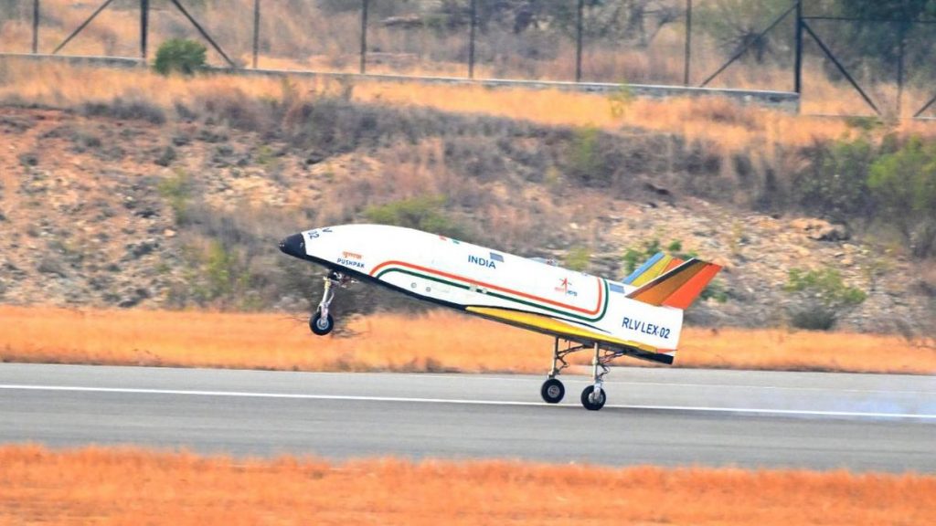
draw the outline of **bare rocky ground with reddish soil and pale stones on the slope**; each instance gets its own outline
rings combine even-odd
[[[255,301],[240,307],[302,308],[303,294],[261,275],[280,265],[280,236],[361,220],[366,206],[425,191],[455,199],[463,224],[496,226],[497,236],[478,234],[478,241],[560,258],[584,245],[590,270],[607,276],[625,273],[627,248],[680,241],[682,251],[724,265],[720,294],[690,311],[698,324],[782,325],[803,300],[783,290],[789,270],[830,266],[868,293],[841,313],[840,327],[908,334],[933,327],[932,297],[913,277],[918,263],[842,226],[743,212],[660,188],[623,198],[561,176],[466,181],[433,164],[446,149],[424,140],[350,153],[298,151],[203,121],[0,108],[0,301],[190,304],[185,292],[212,283],[205,272],[216,262],[205,247],[223,236],[242,246],[236,256],[253,257],[238,267],[251,284],[244,288],[266,295],[239,289],[224,274],[232,289],[195,302],[241,293]]]

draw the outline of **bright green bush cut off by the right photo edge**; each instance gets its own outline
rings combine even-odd
[[[914,256],[936,254],[936,142],[910,139],[870,167],[871,197],[897,226]]]

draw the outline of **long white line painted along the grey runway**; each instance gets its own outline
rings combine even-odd
[[[345,396],[314,395],[298,393],[257,393],[246,391],[199,391],[180,389],[137,389],[129,387],[70,387],[70,386],[21,386],[0,385],[0,389],[29,391],[77,391],[93,393],[124,394],[162,394],[180,396],[215,396],[240,398],[273,398],[293,400],[344,400],[353,402],[414,402],[414,403],[456,403],[465,405],[537,405],[549,407],[545,402],[511,402],[496,400],[459,400],[444,398],[406,398],[389,396]],[[551,407],[578,407],[578,404],[551,405]],[[796,409],[754,409],[747,407],[698,407],[680,405],[611,405],[605,407],[617,409],[644,409],[654,411],[693,411],[700,413],[747,413],[754,415],[789,415],[789,416],[855,416],[866,418],[917,418],[936,420],[936,415],[916,415],[914,413],[865,413],[856,411],[808,411]]]

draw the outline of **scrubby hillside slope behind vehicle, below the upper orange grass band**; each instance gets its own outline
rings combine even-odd
[[[7,303],[303,311],[316,270],[276,241],[389,219],[608,277],[626,273],[627,249],[672,245],[725,266],[695,323],[783,325],[802,302],[784,291],[789,270],[826,267],[868,293],[841,326],[925,334],[932,323],[931,298],[905,278],[912,262],[821,221],[739,208],[720,157],[673,134],[220,97],[7,105],[0,138]],[[342,302],[414,307],[369,287]]]

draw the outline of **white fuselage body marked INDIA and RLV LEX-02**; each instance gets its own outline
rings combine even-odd
[[[306,259],[422,300],[540,314],[661,351],[680,340],[680,309],[630,300],[625,285],[584,272],[400,226],[329,226],[301,236]]]

